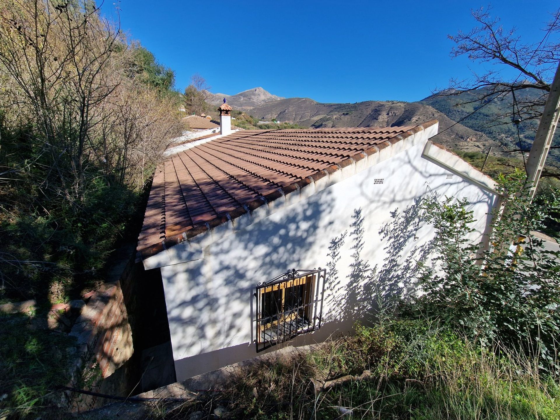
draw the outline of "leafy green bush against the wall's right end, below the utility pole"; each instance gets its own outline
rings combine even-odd
[[[474,220],[466,200],[424,201],[424,220],[437,232],[441,271],[423,269],[423,293],[409,309],[484,346],[500,343],[536,354],[545,370],[560,373],[560,253],[545,250],[543,240],[533,234],[558,212],[558,190],[531,202],[521,171],[499,182],[505,206],[493,214],[486,238],[490,249],[467,239]],[[526,239],[510,246],[518,235]]]

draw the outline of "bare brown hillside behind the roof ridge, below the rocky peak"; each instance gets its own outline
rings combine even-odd
[[[321,104],[309,98],[288,98],[256,106],[249,113],[258,119],[277,118],[304,127],[391,127],[437,119],[441,132],[454,123],[429,105],[398,101]],[[489,146],[500,146],[483,133],[461,124],[438,134],[435,140],[465,151],[486,151]]]

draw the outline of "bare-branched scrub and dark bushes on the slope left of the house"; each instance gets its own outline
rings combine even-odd
[[[67,383],[71,343],[33,318],[95,288],[136,234],[182,129],[173,85],[94,2],[0,0],[0,304],[36,301],[0,318],[0,412],[40,407]]]

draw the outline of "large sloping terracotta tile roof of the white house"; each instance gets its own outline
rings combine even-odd
[[[156,254],[436,123],[242,130],[179,152],[153,176],[137,249]]]

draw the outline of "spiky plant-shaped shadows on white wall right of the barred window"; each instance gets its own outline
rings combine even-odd
[[[391,221],[381,226],[379,237],[366,237],[364,217],[361,208],[354,209],[352,223],[348,230],[332,239],[329,246],[328,276],[329,293],[326,300],[336,296],[346,296],[326,321],[348,323],[362,321],[367,323],[374,318],[381,305],[392,306],[405,298],[413,289],[421,263],[427,261],[434,249],[433,239],[418,242],[421,224],[421,198],[402,211],[391,212]],[[349,241],[352,251],[349,274],[342,281],[339,273],[340,251]],[[384,251],[384,263],[371,266],[363,255],[368,241],[378,241]],[[366,248],[371,248],[370,246]]]

